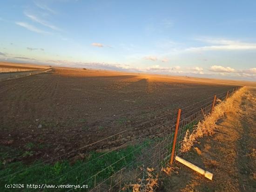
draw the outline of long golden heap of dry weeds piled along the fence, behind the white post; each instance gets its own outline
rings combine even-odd
[[[246,87],[238,90],[234,95],[229,97],[226,101],[217,99],[218,105],[215,106],[213,113],[205,115],[204,120],[199,122],[195,130],[189,134],[187,130],[185,137],[182,141],[181,152],[187,152],[194,145],[197,138],[202,138],[203,135],[212,135],[216,127],[216,122],[224,116],[224,113],[236,113],[239,111],[234,106],[234,101],[241,98],[246,90]]]

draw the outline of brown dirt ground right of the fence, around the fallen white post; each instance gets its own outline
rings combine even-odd
[[[256,89],[236,101],[238,113],[227,113],[216,125],[212,137],[199,139],[190,152],[182,154],[189,162],[213,173],[204,178],[176,162],[162,185],[162,192],[255,192],[256,191]],[[224,135],[225,134],[225,135]]]

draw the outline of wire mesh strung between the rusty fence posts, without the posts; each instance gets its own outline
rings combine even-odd
[[[241,86],[234,88],[233,90],[229,90],[229,94],[227,92],[220,93],[216,95],[216,99],[220,99],[222,101],[226,100],[227,97],[232,96],[235,91],[240,89]],[[184,107],[183,109],[185,113],[181,114],[179,129],[177,134],[177,140],[175,145],[175,154],[180,153],[180,149],[182,146],[182,141],[185,137],[187,131],[190,133],[193,132],[196,125],[202,121],[206,115],[209,115],[212,110],[212,101],[213,97],[209,97],[200,102],[194,103],[190,106]],[[203,103],[202,103],[203,102]],[[175,112],[172,112],[175,113]],[[155,119],[162,118],[170,113],[165,113],[162,116],[159,116]],[[152,121],[154,119],[148,120],[146,123]],[[137,183],[138,179],[144,178],[144,171],[141,167],[153,167],[155,169],[155,174],[159,173],[162,167],[168,165],[173,143],[174,143],[174,135],[175,135],[175,123],[177,118],[164,121],[161,124],[153,127],[151,130],[147,130],[148,132],[143,132],[141,134],[141,140],[137,139],[137,143],[134,143],[133,140],[124,142],[121,146],[117,146],[109,150],[108,152],[102,152],[100,155],[95,155],[94,158],[91,158],[89,161],[85,162],[81,166],[77,166],[74,169],[69,170],[68,172],[64,172],[59,174],[57,177],[53,177],[46,181],[46,183],[50,183],[53,181],[62,182],[63,185],[68,184],[68,177],[72,176],[71,172],[76,172],[77,177],[81,177],[82,179],[78,179],[81,181],[78,185],[88,185],[88,189],[82,189],[81,191],[93,191],[93,192],[116,192],[122,191],[122,187],[127,183]],[[143,125],[142,123],[140,124]],[[135,126],[138,127],[138,126]],[[135,128],[132,127],[132,128]],[[143,127],[142,127],[143,128]],[[138,129],[140,131],[141,128]],[[122,131],[121,133],[125,133],[127,130]],[[120,133],[118,133],[120,134]],[[101,139],[107,140],[115,137],[109,136],[108,138]],[[153,135],[151,135],[153,134]],[[150,137],[149,137],[150,136]],[[148,139],[145,139],[149,137]],[[100,142],[100,141],[99,141]],[[95,142],[93,144],[89,144],[87,146],[91,146],[98,143]],[[123,153],[122,149],[127,146],[133,146],[129,150],[128,153]],[[81,149],[81,148],[80,148]],[[76,149],[78,151],[80,149]],[[119,152],[119,157],[113,157],[112,152]],[[90,165],[97,164],[98,162],[102,162],[105,160],[104,164],[99,164],[99,167],[95,169],[95,171],[90,172],[88,175],[88,169],[92,168]],[[44,162],[43,162],[44,163]],[[98,164],[97,164],[98,165]],[[33,166],[32,166],[33,167]],[[22,171],[22,170],[21,170]],[[20,171],[20,172],[21,172]],[[26,171],[26,170],[23,170]],[[16,172],[16,173],[20,173]],[[12,177],[12,180],[15,179],[15,174],[12,173],[8,176]],[[1,179],[4,179],[8,176],[4,176]],[[62,180],[65,176],[66,180]],[[74,188],[67,190],[73,191]],[[31,190],[35,191],[35,190]],[[37,191],[37,190],[36,190]]]

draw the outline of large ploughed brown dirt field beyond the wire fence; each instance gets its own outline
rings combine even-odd
[[[234,81],[203,81],[55,67],[52,73],[0,82],[1,150],[16,154],[10,162],[49,159],[173,112],[84,151],[152,136],[157,132],[150,128],[173,119],[177,108],[236,86]],[[28,148],[31,155],[19,155]]]

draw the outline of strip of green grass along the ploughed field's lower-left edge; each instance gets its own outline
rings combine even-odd
[[[31,168],[28,168],[28,165],[25,165],[21,162],[14,162],[7,165],[3,165],[1,163],[0,178],[7,176],[13,172],[18,173],[7,176],[4,179],[0,179],[0,191],[10,191],[2,187],[5,184],[14,183],[24,184],[27,186],[27,184],[78,185],[83,182],[83,185],[89,185],[89,187],[93,187],[94,179],[97,184],[100,181],[107,179],[124,166],[128,166],[128,164],[131,164],[131,162],[135,160],[136,156],[140,154],[141,149],[142,147],[140,145],[128,146],[126,149],[109,152],[103,157],[100,156],[104,153],[90,152],[87,158],[82,161],[77,161],[73,165],[71,165],[67,160],[58,161],[54,164],[39,164],[40,162],[35,162],[34,164],[30,165]],[[136,151],[134,152],[134,150]],[[30,155],[29,152],[25,153],[26,155]],[[118,162],[113,164],[116,161]],[[24,169],[26,170],[21,171]],[[105,170],[100,172],[103,169]],[[98,172],[100,173],[97,174],[96,177],[94,177],[94,175]],[[12,189],[12,191],[15,190]],[[23,191],[31,191],[31,189],[24,188]],[[67,191],[67,189],[57,189],[55,191]]]

